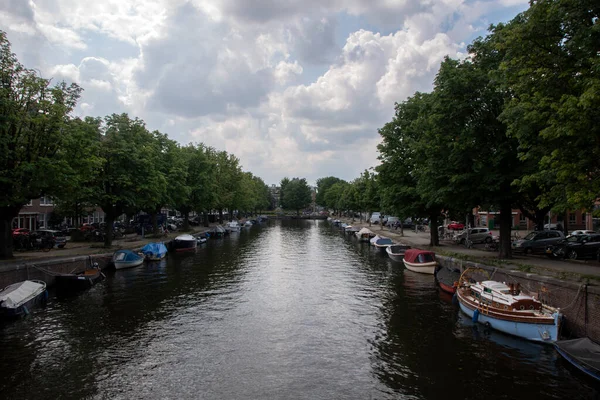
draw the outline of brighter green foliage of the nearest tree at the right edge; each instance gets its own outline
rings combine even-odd
[[[538,163],[524,177],[544,187],[556,175],[541,207],[590,209],[600,193],[599,18],[597,1],[535,0],[494,29],[511,91],[501,118],[520,157]]]

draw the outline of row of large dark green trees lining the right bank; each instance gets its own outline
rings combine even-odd
[[[501,258],[511,256],[512,208],[540,227],[550,210],[593,210],[600,197],[599,17],[591,0],[534,0],[492,26],[468,47],[468,58],[442,62],[431,93],[396,104],[379,130],[378,189],[366,195],[366,172],[350,184],[323,178],[318,203],[428,216],[432,245],[442,211],[494,208]]]

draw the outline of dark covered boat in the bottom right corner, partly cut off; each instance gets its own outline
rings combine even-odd
[[[559,340],[556,351],[588,376],[600,381],[600,344],[590,338]]]

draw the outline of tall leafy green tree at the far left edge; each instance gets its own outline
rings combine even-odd
[[[26,69],[0,31],[0,258],[12,257],[11,221],[31,199],[58,194],[57,153],[81,89]]]

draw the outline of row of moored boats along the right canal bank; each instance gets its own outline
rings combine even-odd
[[[480,268],[467,268],[462,273],[438,265],[435,253],[394,243],[368,228],[357,228],[332,220],[344,232],[354,234],[361,242],[384,250],[406,269],[434,275],[441,290],[451,293],[461,312],[473,322],[481,323],[513,336],[538,343],[551,343],[570,363],[590,377],[600,381],[600,344],[590,338],[558,340],[563,315],[560,309],[543,304],[524,293],[518,284],[492,279],[477,280],[487,275]]]

